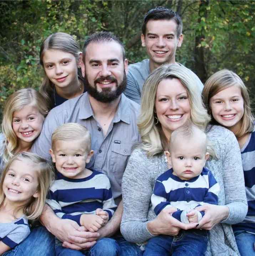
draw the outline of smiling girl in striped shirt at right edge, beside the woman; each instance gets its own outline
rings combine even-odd
[[[232,131],[240,146],[248,213],[232,227],[241,256],[255,255],[255,126],[248,90],[237,74],[223,69],[211,75],[202,94],[211,122]]]

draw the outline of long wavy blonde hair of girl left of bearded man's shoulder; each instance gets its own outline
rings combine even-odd
[[[17,136],[12,129],[12,115],[15,111],[19,111],[26,105],[38,108],[39,112],[46,117],[49,111],[49,105],[42,95],[35,89],[20,89],[12,93],[6,100],[3,118],[2,133],[5,136],[2,159],[6,163],[14,154],[19,146]]]

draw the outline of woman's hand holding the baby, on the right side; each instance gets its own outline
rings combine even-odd
[[[229,215],[229,208],[225,205],[210,205],[209,203],[205,203],[202,206],[196,207],[195,210],[205,212],[197,228],[206,230],[211,230],[216,224],[225,220]]]

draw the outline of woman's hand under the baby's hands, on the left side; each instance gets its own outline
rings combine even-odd
[[[159,215],[153,220],[147,223],[148,231],[152,235],[178,235],[180,229],[188,230],[190,228],[195,228],[198,223],[184,224],[174,217],[171,213],[175,212],[174,207],[165,208]]]

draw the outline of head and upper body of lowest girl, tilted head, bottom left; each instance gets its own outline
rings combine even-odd
[[[53,171],[44,158],[23,152],[6,164],[0,180],[0,255],[30,233],[42,213]]]

